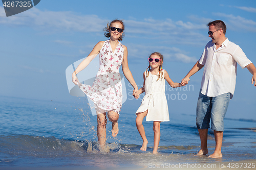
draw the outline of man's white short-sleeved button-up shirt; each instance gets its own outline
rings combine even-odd
[[[239,45],[226,38],[218,50],[215,43],[209,41],[199,63],[204,65],[201,93],[215,97],[230,92],[232,99],[236,87],[237,63],[245,68],[251,61]]]

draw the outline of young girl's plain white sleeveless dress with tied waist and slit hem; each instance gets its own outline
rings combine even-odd
[[[147,76],[145,71],[145,96],[141,102],[139,109],[136,112],[141,113],[147,110],[146,121],[169,121],[169,111],[165,96],[165,70],[163,76],[158,81],[158,75],[152,75],[149,72]]]

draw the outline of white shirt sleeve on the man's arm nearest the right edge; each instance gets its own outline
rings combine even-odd
[[[236,46],[237,46],[237,49],[234,51],[232,57],[234,60],[238,62],[238,64],[242,68],[245,68],[248,64],[251,63],[251,61],[246,57],[242,48],[239,45],[236,45]]]

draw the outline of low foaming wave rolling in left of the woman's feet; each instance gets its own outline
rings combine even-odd
[[[39,157],[65,156],[67,152],[74,151],[82,153],[82,145],[80,142],[55,137],[29,135],[1,136],[0,139],[0,149],[3,153]]]

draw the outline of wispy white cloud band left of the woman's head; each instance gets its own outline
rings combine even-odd
[[[0,7],[0,11],[1,15],[5,15],[3,7]],[[108,22],[97,15],[77,15],[70,11],[41,11],[37,8],[25,11],[22,16],[0,17],[0,23],[8,26],[50,28],[52,31],[99,32]]]

